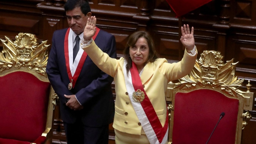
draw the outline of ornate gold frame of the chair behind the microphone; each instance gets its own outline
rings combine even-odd
[[[196,60],[196,64],[191,73],[181,79],[178,83],[170,82],[166,94],[166,100],[169,102],[168,110],[170,117],[169,140],[168,144],[172,144],[173,116],[175,110],[175,94],[177,92],[192,92],[198,89],[209,89],[220,92],[228,98],[239,100],[239,110],[236,124],[236,144],[241,143],[242,129],[252,116],[249,110],[254,107],[254,95],[250,92],[251,84],[248,81],[246,85],[247,91],[238,90],[244,79],[238,79],[235,76],[236,63],[233,60],[223,63],[223,56],[220,52],[204,51],[200,59]],[[245,112],[245,113],[244,113]]]

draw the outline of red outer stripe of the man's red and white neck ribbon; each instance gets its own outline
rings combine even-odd
[[[78,76],[80,75],[81,70],[83,68],[85,59],[87,57],[87,53],[85,51],[83,52],[82,57],[79,60],[78,66],[76,68],[76,72],[75,72],[74,76],[72,76],[71,70],[70,70],[70,67],[69,67],[69,56],[68,56],[68,35],[69,35],[69,31],[70,31],[70,28],[68,28],[68,30],[66,32],[66,35],[65,35],[65,39],[64,39],[64,54],[65,54],[65,61],[66,61],[66,67],[67,67],[67,72],[68,72],[68,78],[69,78],[70,83],[72,83],[72,85],[73,85],[72,88],[74,88],[75,84],[76,84],[76,80],[77,80]],[[93,40],[95,40],[99,31],[100,31],[100,29],[96,27],[96,33],[92,37]],[[73,82],[72,82],[72,80],[73,80]]]

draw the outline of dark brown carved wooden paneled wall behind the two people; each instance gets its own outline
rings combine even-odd
[[[67,28],[63,5],[67,0],[1,0],[0,38],[13,40],[19,32],[36,34],[39,41],[52,42],[57,29]],[[239,61],[236,75],[250,80],[256,92],[256,0],[212,0],[180,18],[165,0],[90,0],[97,27],[116,37],[118,57],[130,34],[147,30],[154,39],[160,57],[169,62],[182,59],[185,48],[180,43],[180,27],[195,28],[198,53],[220,51],[224,61]],[[0,50],[2,45],[0,45]],[[200,55],[198,55],[198,58]],[[114,84],[113,84],[113,92]],[[242,143],[256,143],[256,111],[243,130]],[[65,143],[65,132],[59,114],[55,114],[54,143]],[[110,125],[110,141],[114,132]]]

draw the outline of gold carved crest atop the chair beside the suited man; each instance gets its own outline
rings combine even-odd
[[[48,60],[47,41],[41,44],[37,42],[37,38],[33,34],[19,33],[15,37],[16,41],[12,41],[5,36],[3,43],[3,51],[0,52],[0,72],[15,68],[27,67],[28,70],[35,70],[37,73],[47,77],[46,64]]]

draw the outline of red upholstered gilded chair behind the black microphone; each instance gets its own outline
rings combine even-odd
[[[233,59],[224,63],[220,52],[204,51],[191,73],[170,82],[166,94],[170,127],[168,144],[240,144],[246,120],[252,117],[253,93],[238,90],[244,79],[235,76]]]

